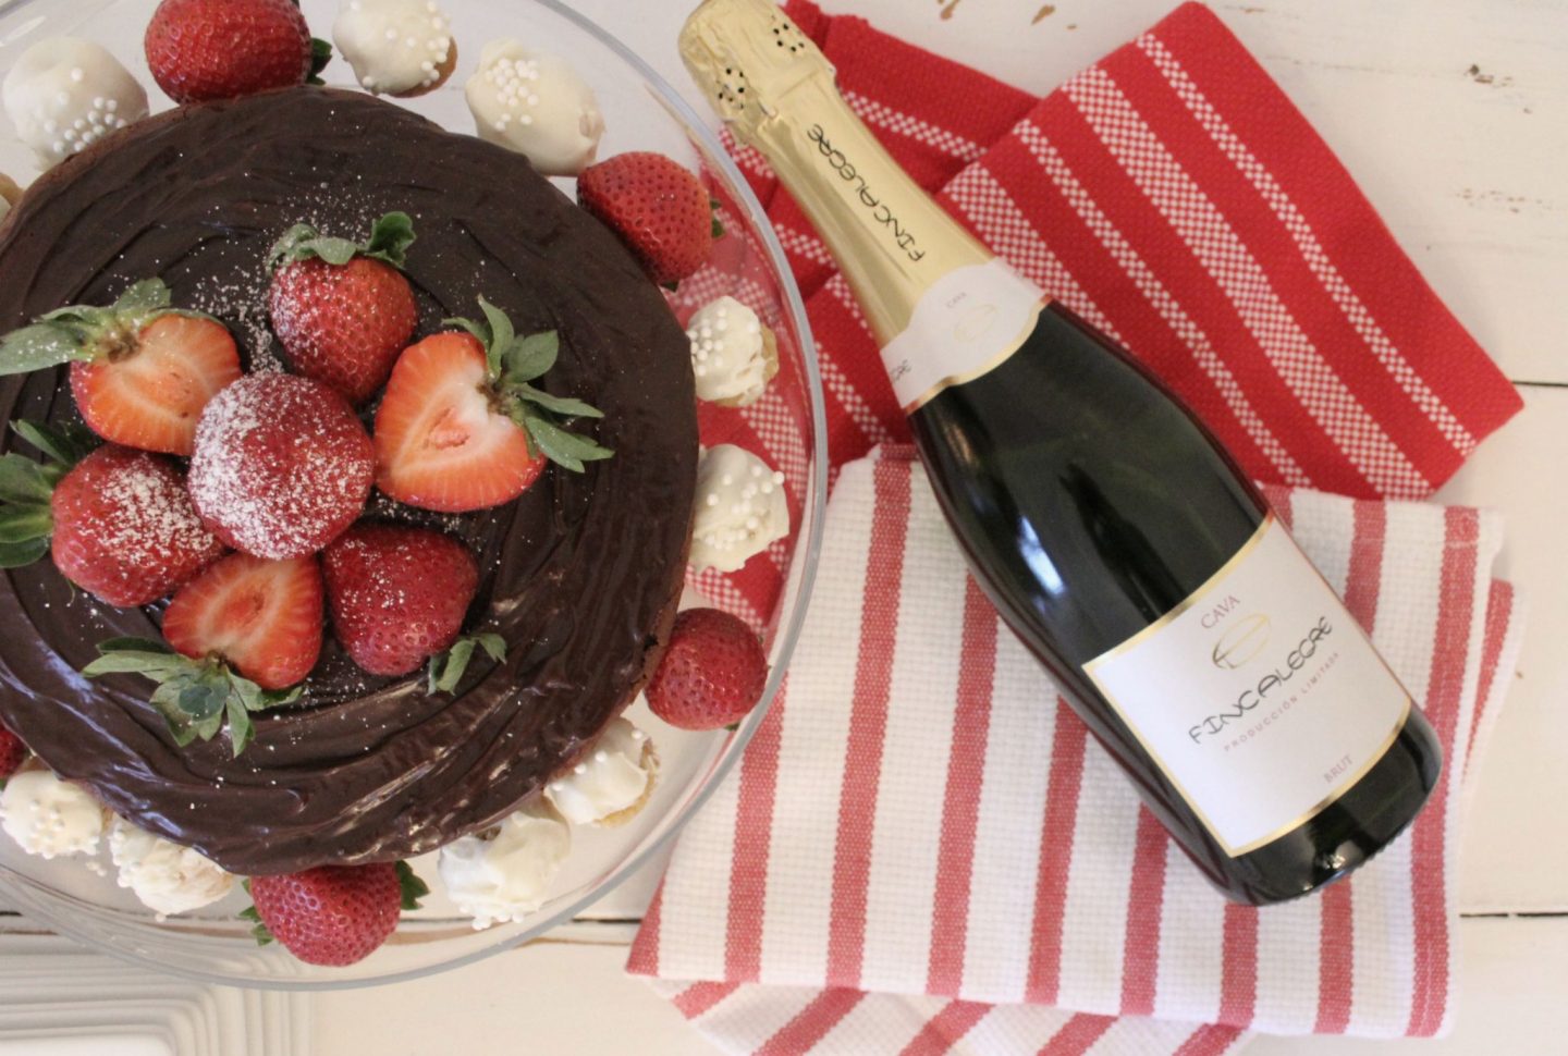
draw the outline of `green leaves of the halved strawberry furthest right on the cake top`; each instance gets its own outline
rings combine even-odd
[[[561,349],[560,334],[546,331],[517,337],[506,313],[485,298],[480,298],[480,310],[485,313],[483,321],[456,318],[445,320],[445,324],[467,331],[485,346],[486,370],[500,398],[500,410],[522,428],[528,456],[536,457],[543,451],[547,459],[574,473],[582,473],[586,462],[612,457],[615,451],[610,448],[564,428],[568,418],[602,418],[602,410],[583,400],[557,396],[528,384],[555,367]],[[431,693],[434,691],[433,688]]]

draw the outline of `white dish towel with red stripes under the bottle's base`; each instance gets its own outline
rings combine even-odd
[[[1273,489],[1443,738],[1414,827],[1320,896],[1226,902],[1000,624],[906,448],[853,462],[790,666],[630,970],[731,1053],[1221,1053],[1432,1034],[1460,779],[1518,647],[1491,514]],[[858,628],[858,630],[856,630]]]

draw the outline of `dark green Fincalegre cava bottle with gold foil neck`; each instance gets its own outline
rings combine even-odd
[[[1198,868],[1267,904],[1388,844],[1438,741],[1203,423],[902,172],[770,0],[707,0],[681,52],[833,251],[975,578]]]

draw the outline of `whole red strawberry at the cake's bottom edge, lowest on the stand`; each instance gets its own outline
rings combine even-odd
[[[259,942],[276,938],[306,964],[342,967],[364,960],[417,909],[428,888],[403,862],[318,865],[303,873],[249,881]]]

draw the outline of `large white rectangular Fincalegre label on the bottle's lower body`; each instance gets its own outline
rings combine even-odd
[[[1083,671],[1231,857],[1330,805],[1410,714],[1410,694],[1273,515]]]

